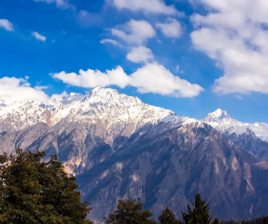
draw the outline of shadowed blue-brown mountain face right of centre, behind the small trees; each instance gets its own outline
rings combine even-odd
[[[166,205],[179,215],[197,192],[220,219],[267,213],[266,162],[210,126],[160,134],[154,133],[162,125],[150,128],[143,135],[143,130],[134,133],[105,161],[77,175],[83,198],[94,207],[92,218],[100,220],[118,198],[127,197],[144,202],[155,217]]]

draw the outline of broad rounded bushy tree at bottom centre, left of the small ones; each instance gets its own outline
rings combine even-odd
[[[117,208],[104,218],[105,224],[156,224],[155,220],[149,219],[152,212],[143,209],[143,203],[136,199],[118,200]]]

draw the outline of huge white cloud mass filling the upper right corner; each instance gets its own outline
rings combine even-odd
[[[194,47],[216,61],[224,75],[214,91],[268,94],[268,1],[201,0],[209,13],[194,14]],[[266,28],[264,28],[266,27]]]

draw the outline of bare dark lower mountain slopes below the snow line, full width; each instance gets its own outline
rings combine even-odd
[[[180,216],[197,192],[220,219],[268,212],[268,164],[207,124],[148,124],[130,137],[119,135],[112,144],[82,122],[62,127],[59,132],[37,123],[1,132],[1,149],[15,145],[57,153],[66,171],[76,173],[83,200],[93,206],[93,220],[101,221],[117,199],[127,197],[144,202],[155,217],[167,205]]]

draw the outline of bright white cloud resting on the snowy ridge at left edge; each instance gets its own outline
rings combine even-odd
[[[31,84],[27,81],[29,77],[15,78],[15,77],[3,77],[0,78],[0,99],[11,102],[21,102],[24,100],[33,100],[46,102],[51,98],[58,98],[58,96],[66,96],[64,91],[62,94],[54,94],[49,97],[42,89],[46,89],[46,86],[31,87]]]

